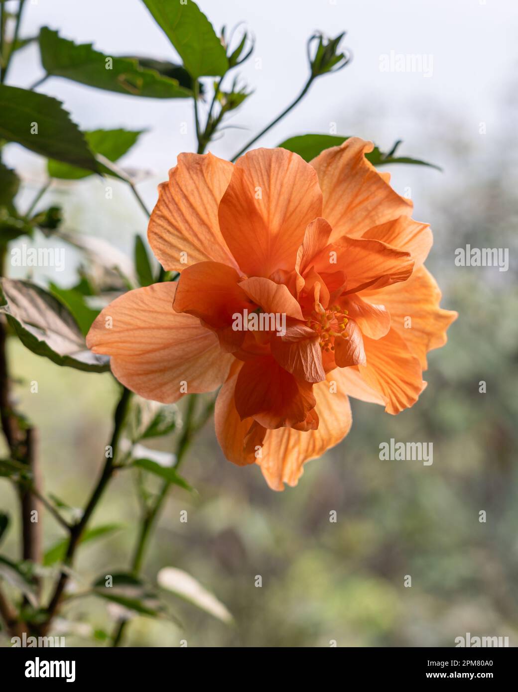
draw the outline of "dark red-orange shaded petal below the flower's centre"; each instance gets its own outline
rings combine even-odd
[[[235,408],[241,419],[253,417],[265,428],[305,421],[314,408],[312,385],[286,372],[271,356],[246,361],[235,386]]]

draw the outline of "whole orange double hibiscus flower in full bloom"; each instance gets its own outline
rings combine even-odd
[[[456,318],[423,266],[431,231],[366,160],[372,149],[350,138],[311,163],[256,149],[235,165],[181,154],[148,228],[178,282],[121,295],[87,337],[147,399],[222,385],[224,454],[258,463],[276,490],[347,435],[348,396],[413,406]]]

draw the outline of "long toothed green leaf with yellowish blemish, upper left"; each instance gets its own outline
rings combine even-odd
[[[177,80],[143,69],[136,60],[94,51],[92,44],[75,44],[43,26],[39,32],[42,65],[49,75],[74,82],[148,98],[189,98],[193,93]]]

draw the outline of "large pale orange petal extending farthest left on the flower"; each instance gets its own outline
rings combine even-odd
[[[101,311],[87,336],[94,353],[111,356],[118,381],[162,403],[215,390],[234,360],[222,354],[215,334],[199,320],[175,313],[176,288],[167,282],[121,295]],[[187,392],[181,391],[182,383]]]

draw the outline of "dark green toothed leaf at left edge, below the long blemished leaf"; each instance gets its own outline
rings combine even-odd
[[[82,132],[57,99],[0,84],[0,112],[0,138],[17,142],[47,158],[98,171],[98,163]]]

